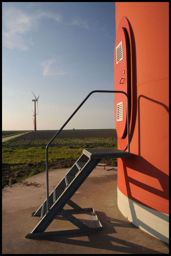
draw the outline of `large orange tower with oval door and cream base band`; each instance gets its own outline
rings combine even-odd
[[[129,95],[130,158],[117,161],[117,205],[169,243],[169,2],[116,2],[114,90]],[[128,148],[127,105],[114,97],[118,149]]]

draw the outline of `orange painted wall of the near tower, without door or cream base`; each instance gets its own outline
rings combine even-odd
[[[118,159],[118,188],[168,214],[169,3],[119,2],[115,18],[116,35],[125,28],[130,44],[131,157]],[[118,149],[126,147],[127,136],[118,137]]]

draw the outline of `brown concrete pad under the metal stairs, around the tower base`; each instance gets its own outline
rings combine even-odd
[[[68,172],[49,170],[49,193]],[[2,190],[3,254],[167,254],[168,244],[131,224],[117,207],[117,168],[93,170],[71,200],[82,208],[93,207],[103,230],[96,233],[65,234],[34,239],[25,238],[40,221],[31,217],[46,199],[46,173],[42,172]],[[64,209],[70,209],[66,205]],[[90,215],[74,215],[94,225]],[[46,231],[77,228],[57,216]]]

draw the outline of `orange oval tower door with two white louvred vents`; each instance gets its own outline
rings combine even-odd
[[[114,90],[128,94],[128,46],[124,28],[119,28],[114,52]],[[114,95],[116,132],[119,138],[127,134],[127,100],[121,93]]]

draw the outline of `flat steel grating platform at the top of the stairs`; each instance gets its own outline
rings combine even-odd
[[[83,154],[90,159],[130,157],[130,153],[117,148],[86,148]]]

